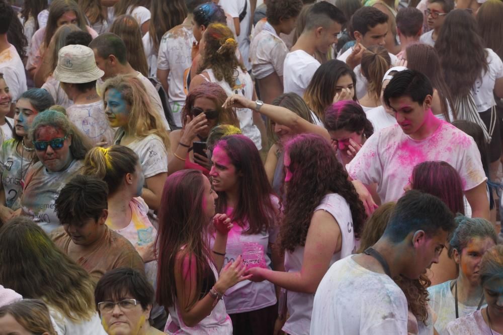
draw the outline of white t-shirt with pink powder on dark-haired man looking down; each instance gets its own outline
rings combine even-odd
[[[365,142],[346,170],[366,185],[377,183],[384,203],[398,200],[414,166],[426,161],[451,164],[461,176],[464,191],[487,179],[473,138],[446,122],[421,141],[405,135],[398,124],[381,129]]]

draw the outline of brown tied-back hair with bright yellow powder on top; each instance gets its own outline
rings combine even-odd
[[[81,173],[103,179],[108,184],[109,194],[113,194],[124,176],[135,172],[138,161],[135,152],[125,146],[95,147],[86,155]]]

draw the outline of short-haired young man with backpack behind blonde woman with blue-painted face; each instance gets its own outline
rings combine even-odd
[[[89,47],[94,51],[96,65],[104,72],[102,77],[103,80],[115,77],[118,74],[136,75],[138,79],[141,80],[150,97],[150,102],[152,103],[154,111],[159,114],[164,128],[169,131],[170,126],[167,123],[159,93],[147,77],[131,67],[126,59],[127,50],[124,41],[113,33],[104,33],[95,38],[89,44]],[[103,96],[101,85],[102,83],[98,81],[96,89],[98,94]]]

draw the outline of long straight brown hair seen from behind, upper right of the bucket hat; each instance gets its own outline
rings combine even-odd
[[[110,27],[110,33],[120,37],[126,45],[126,59],[133,69],[148,77],[148,64],[141,41],[141,30],[131,15],[121,15],[115,18]]]

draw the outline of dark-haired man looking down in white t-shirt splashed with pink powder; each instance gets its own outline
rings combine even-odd
[[[432,113],[433,88],[417,71],[401,71],[384,90],[384,101],[393,109],[397,124],[374,133],[346,166],[365,199],[369,212],[374,201],[359,183],[377,183],[382,203],[396,201],[415,165],[445,161],[460,174],[473,217],[489,219],[486,176],[473,139]]]

